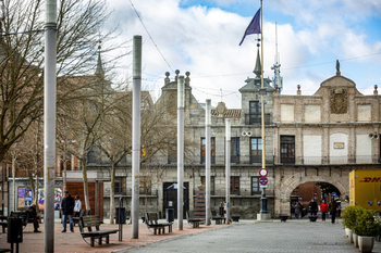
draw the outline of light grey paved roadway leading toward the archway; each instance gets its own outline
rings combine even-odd
[[[122,252],[358,253],[359,250],[349,243],[341,224],[300,219],[286,223],[239,222],[224,229],[188,235]],[[381,253],[381,242],[376,241],[373,252]]]

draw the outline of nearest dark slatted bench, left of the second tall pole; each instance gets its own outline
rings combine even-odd
[[[90,238],[90,246],[94,246],[94,240],[98,239],[98,244],[102,244],[102,238],[106,238],[106,244],[109,244],[110,233],[115,233],[119,229],[99,230],[100,219],[99,216],[83,216],[79,218],[79,231],[82,238]],[[93,227],[95,228],[93,230]],[[87,228],[87,232],[85,231]],[[85,240],[86,241],[86,240]]]

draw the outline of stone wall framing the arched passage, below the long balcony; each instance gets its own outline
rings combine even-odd
[[[351,168],[331,169],[320,168],[290,168],[279,167],[275,169],[275,216],[290,214],[290,197],[295,188],[309,181],[324,181],[335,186],[341,198],[349,194],[349,172]],[[342,202],[342,207],[346,207]]]

